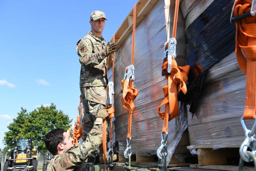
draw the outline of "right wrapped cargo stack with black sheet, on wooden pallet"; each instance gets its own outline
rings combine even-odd
[[[238,165],[239,147],[245,139],[240,119],[245,104],[246,75],[240,70],[235,53],[235,24],[229,22],[234,1],[183,0],[186,19],[189,79],[201,79],[193,114],[188,114],[192,154],[198,156],[194,168],[238,170],[225,166],[228,159]],[[203,76],[202,76],[203,75]],[[191,88],[191,87],[189,87]],[[251,128],[254,121],[247,121]],[[235,161],[234,161],[235,160]],[[222,166],[220,166],[222,165]],[[253,168],[247,168],[253,170]]]

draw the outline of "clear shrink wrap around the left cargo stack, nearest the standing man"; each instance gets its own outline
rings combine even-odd
[[[172,33],[174,9],[174,2],[168,4],[168,1],[159,0],[136,27],[134,88],[139,93],[134,100],[136,107],[132,114],[132,154],[154,155],[161,145],[163,120],[158,115],[157,109],[164,99],[162,88],[167,85],[166,78],[161,74],[164,59],[164,43],[170,38],[169,33]],[[181,11],[179,11],[176,40],[176,61],[179,66],[184,66],[186,55],[185,19],[182,17]],[[114,56],[115,135],[119,145],[119,154],[124,153],[127,145],[126,137],[129,114],[121,103],[122,93],[120,90],[122,89],[121,81],[124,79],[125,68],[131,65],[131,49],[132,33],[122,42],[120,48],[116,49],[117,51]],[[186,117],[184,118],[183,114],[180,115],[179,120],[183,122]],[[177,119],[173,119],[168,124],[168,145],[178,137],[175,144],[176,146],[179,144],[176,150],[177,153],[189,153],[189,150],[186,148],[189,145],[188,133],[182,137],[187,124],[185,123],[181,126],[177,125],[177,123],[179,123]],[[175,130],[180,130],[180,132],[177,133]],[[180,141],[180,139],[182,140]],[[174,154],[175,148],[170,147],[169,149],[169,154]]]

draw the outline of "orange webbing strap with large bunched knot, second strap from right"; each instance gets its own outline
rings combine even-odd
[[[173,22],[173,37],[176,38],[176,29],[177,29],[177,20],[178,20],[178,9],[179,9],[179,0],[176,0],[175,4],[175,14]],[[168,45],[168,43],[166,43]],[[163,72],[167,72],[168,60],[163,63],[162,69]],[[164,120],[164,125],[162,133],[165,134],[168,131],[168,121],[172,120],[178,115],[178,98],[177,95],[182,90],[184,94],[187,93],[186,82],[188,80],[190,66],[186,65],[183,67],[178,67],[177,62],[172,56],[172,67],[171,72],[166,74],[165,77],[168,80],[168,86],[163,87],[164,91],[164,100],[158,108],[159,116]],[[165,105],[165,111],[160,112],[161,106]],[[170,110],[170,114],[169,114]]]

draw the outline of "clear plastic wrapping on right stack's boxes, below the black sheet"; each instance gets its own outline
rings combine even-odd
[[[245,138],[240,122],[245,89],[246,75],[239,69],[234,52],[208,69],[194,117],[188,114],[191,146],[216,149],[241,145]],[[246,123],[251,129],[254,120]]]

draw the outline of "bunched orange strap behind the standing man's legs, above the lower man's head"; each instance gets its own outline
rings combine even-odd
[[[77,111],[79,110],[80,106],[81,106],[81,112],[80,112],[80,115],[77,117],[77,122],[74,124],[74,128],[73,128],[73,137],[72,137],[74,139],[73,145],[77,145],[79,143],[79,139],[83,135],[83,124],[80,125],[82,113],[83,113],[83,104],[78,106]]]

